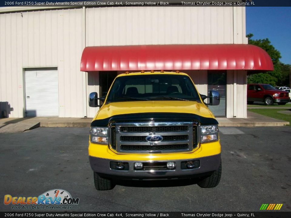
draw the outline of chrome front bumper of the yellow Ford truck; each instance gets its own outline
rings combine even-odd
[[[93,171],[103,175],[104,177],[113,177],[118,178],[122,177],[122,179],[147,179],[147,180],[156,180],[156,179],[175,179],[179,177],[197,177],[202,176],[204,174],[215,171],[219,168],[219,164],[221,161],[220,154],[200,157],[195,159],[187,159],[187,160],[158,160],[158,161],[133,161],[133,160],[111,160],[104,159],[99,157],[89,156],[90,165]],[[185,162],[188,161],[198,161],[199,165],[196,168],[188,169],[185,168]],[[127,166],[127,169],[117,170],[112,169],[112,165],[110,162],[114,163],[124,163]],[[167,163],[174,162],[175,169],[169,170],[136,170],[134,164],[136,162],[143,163]],[[196,163],[198,163],[196,162]]]

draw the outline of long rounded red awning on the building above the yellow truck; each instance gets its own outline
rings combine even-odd
[[[81,71],[273,69],[266,51],[244,44],[93,46],[81,58]]]

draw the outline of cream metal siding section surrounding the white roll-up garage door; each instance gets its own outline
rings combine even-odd
[[[74,20],[80,22],[73,22]],[[81,21],[81,8],[0,15],[3,33],[0,35],[0,101],[8,102],[13,107],[9,117],[23,116],[25,102],[22,69],[56,66],[59,70],[59,87],[62,89],[59,92],[62,104],[59,115],[86,115],[83,107],[85,87],[80,83],[83,74],[79,71],[82,54]],[[66,35],[65,28],[69,31]],[[66,65],[64,61],[67,61]],[[74,97],[65,98],[68,92]]]

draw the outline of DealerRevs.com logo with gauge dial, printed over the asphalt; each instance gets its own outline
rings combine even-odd
[[[72,198],[65,190],[53,189],[38,197],[12,197],[7,194],[4,204],[11,204],[14,210],[71,209],[72,205],[79,204],[79,198]]]

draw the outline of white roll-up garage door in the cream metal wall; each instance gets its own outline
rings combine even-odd
[[[57,69],[25,70],[25,106],[27,117],[59,116]]]

